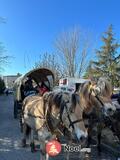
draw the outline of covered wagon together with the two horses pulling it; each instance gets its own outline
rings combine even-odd
[[[27,81],[27,78],[33,80],[34,88],[40,87],[41,82],[44,81],[49,90],[52,90],[54,75],[49,69],[41,68],[28,72],[26,75],[21,77],[20,80],[18,79],[15,82],[16,96],[14,113],[16,109],[17,113],[18,109],[21,109],[21,107],[18,107],[21,106],[23,102],[21,88],[22,85],[24,85]],[[49,93],[47,101],[44,99],[44,96],[31,96],[26,98],[23,103],[23,133],[25,133],[23,138],[23,146],[26,144],[26,131],[28,127],[31,128],[31,144],[34,144],[34,131],[38,132],[38,137],[41,144],[45,143],[46,137],[49,137],[49,132],[50,135],[53,135],[53,133],[61,133],[64,135],[64,137],[76,140],[82,144],[82,140],[85,140],[87,137],[83,111],[86,114],[89,114],[95,109],[95,114],[100,120],[98,126],[101,126],[103,124],[104,116],[110,118],[110,116],[113,115],[116,110],[110,98],[111,85],[104,79],[101,81],[99,80],[98,82],[99,83],[97,83],[96,86],[91,86],[91,83],[84,84],[81,87],[78,95],[76,93],[70,94],[60,92],[56,94],[52,92]],[[102,85],[102,83],[104,85]],[[35,112],[37,107],[38,112]],[[14,116],[16,116],[16,113]],[[41,125],[39,129],[35,128],[37,126],[37,119],[39,119],[39,126]],[[88,129],[91,128],[88,126]],[[101,131],[102,128],[98,128],[98,147],[100,146]],[[90,138],[91,137],[89,137],[89,139]],[[42,147],[44,147],[44,145]],[[44,148],[42,149],[44,151]]]

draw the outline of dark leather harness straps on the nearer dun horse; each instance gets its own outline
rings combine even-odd
[[[78,120],[75,120],[75,121],[71,120],[70,111],[68,110],[68,106],[67,106],[68,102],[62,103],[62,105],[60,107],[60,119],[56,118],[50,112],[48,99],[46,99],[44,101],[44,107],[43,107],[44,116],[43,117],[42,116],[35,116],[35,115],[29,114],[29,113],[28,113],[28,116],[34,117],[34,118],[40,118],[40,119],[44,120],[45,123],[43,124],[42,127],[46,126],[48,131],[50,131],[52,134],[57,133],[57,134],[63,135],[63,136],[71,136],[71,133],[70,133],[69,129],[72,127],[72,129],[74,130],[75,129],[74,124],[82,122],[83,119],[78,119]],[[64,109],[66,110],[67,118],[69,120],[69,127],[66,127],[63,120],[62,120]],[[22,114],[24,114],[24,109],[22,109]],[[54,126],[53,124],[55,124],[55,122],[57,122],[57,123]]]

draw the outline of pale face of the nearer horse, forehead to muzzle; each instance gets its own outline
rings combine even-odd
[[[75,97],[76,99],[74,100],[78,100],[78,97]],[[70,125],[70,121],[68,118],[68,114],[66,109],[64,109],[64,113],[63,113],[63,122],[64,124],[70,129],[70,132],[73,134],[73,137],[78,140],[81,140],[82,138],[85,139],[87,137],[87,130],[85,128],[84,122],[82,121],[82,113],[83,113],[83,109],[80,108],[80,105],[78,104],[78,102],[73,103],[72,102],[72,94],[67,95],[67,97],[65,98],[66,100],[66,107],[67,110],[69,112],[69,116],[72,122],[75,122],[77,120],[80,120],[80,122],[76,122],[73,123],[74,126],[74,130],[72,128],[72,126],[69,128]],[[76,104],[76,106],[74,106]],[[72,107],[72,108],[71,108]],[[73,110],[72,110],[73,109]]]

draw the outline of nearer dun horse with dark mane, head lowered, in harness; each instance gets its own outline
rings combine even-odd
[[[83,121],[83,108],[76,94],[49,92],[43,97],[27,97],[23,102],[23,145],[26,145],[28,128],[37,131],[41,143],[42,158],[45,159],[45,141],[53,135],[63,135],[70,141],[82,143],[87,138]],[[47,158],[46,158],[47,159]]]

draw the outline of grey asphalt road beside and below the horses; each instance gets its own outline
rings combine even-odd
[[[40,160],[40,152],[30,152],[30,147],[21,147],[22,134],[19,128],[19,121],[13,118],[13,96],[0,96],[0,160]],[[52,158],[51,158],[52,159]],[[64,154],[54,160],[64,160]],[[70,160],[77,160],[71,155]],[[91,160],[116,160],[110,153],[97,152],[92,147]]]

